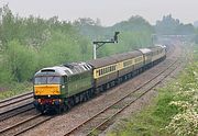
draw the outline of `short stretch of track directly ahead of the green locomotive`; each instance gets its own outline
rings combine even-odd
[[[40,114],[33,115],[26,120],[18,122],[14,125],[11,125],[9,127],[1,129],[0,135],[1,136],[10,136],[10,135],[18,136],[20,134],[25,133],[29,129],[36,127],[37,125],[41,125],[42,123],[44,123],[46,121],[50,121],[53,117],[54,116],[44,116],[40,113]]]

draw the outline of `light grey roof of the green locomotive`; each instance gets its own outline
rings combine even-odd
[[[61,66],[43,68],[35,76],[73,76],[91,70],[91,66],[86,63],[70,63]]]

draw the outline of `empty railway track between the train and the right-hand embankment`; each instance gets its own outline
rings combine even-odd
[[[108,107],[101,110],[92,117],[86,120],[78,126],[74,127],[69,132],[65,134],[68,135],[97,135],[98,133],[106,129],[111,121],[121,113],[129,105],[141,99],[144,94],[155,88],[158,83],[161,83],[168,75],[170,75],[178,66],[180,65],[180,60],[177,59],[172,63],[166,69],[162,70],[155,77],[138,87],[134,91],[128,93],[123,98],[119,99]]]

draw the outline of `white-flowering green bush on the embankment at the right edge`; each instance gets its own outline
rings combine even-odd
[[[177,86],[177,95],[169,103],[180,109],[166,129],[174,135],[196,136],[198,134],[198,63],[183,75]]]

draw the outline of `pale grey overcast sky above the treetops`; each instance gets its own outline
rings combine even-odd
[[[58,15],[69,21],[99,18],[106,26],[132,15],[141,15],[152,24],[169,13],[184,23],[198,20],[198,0],[0,0],[0,7],[6,3],[20,16],[33,14],[48,19]]]

